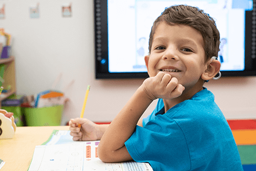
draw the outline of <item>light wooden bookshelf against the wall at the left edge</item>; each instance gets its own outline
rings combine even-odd
[[[16,79],[15,79],[15,58],[14,56],[10,56],[7,59],[0,59],[0,65],[5,65],[5,71],[3,79],[5,82],[3,82],[2,87],[7,88],[9,85],[11,86],[11,89],[7,93],[2,93],[0,96],[0,109],[1,109],[1,102],[2,100],[6,99],[10,95],[14,94],[16,92]]]

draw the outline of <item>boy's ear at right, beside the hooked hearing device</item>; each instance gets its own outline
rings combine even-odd
[[[214,78],[219,73],[220,68],[221,62],[217,59],[212,60],[212,62],[210,62],[209,65],[207,66],[207,69],[201,75],[201,78],[203,80],[210,80]]]

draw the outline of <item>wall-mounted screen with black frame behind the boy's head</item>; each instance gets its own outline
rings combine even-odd
[[[96,78],[146,78],[154,20],[166,7],[203,9],[220,31],[222,76],[256,75],[256,1],[94,0]]]

